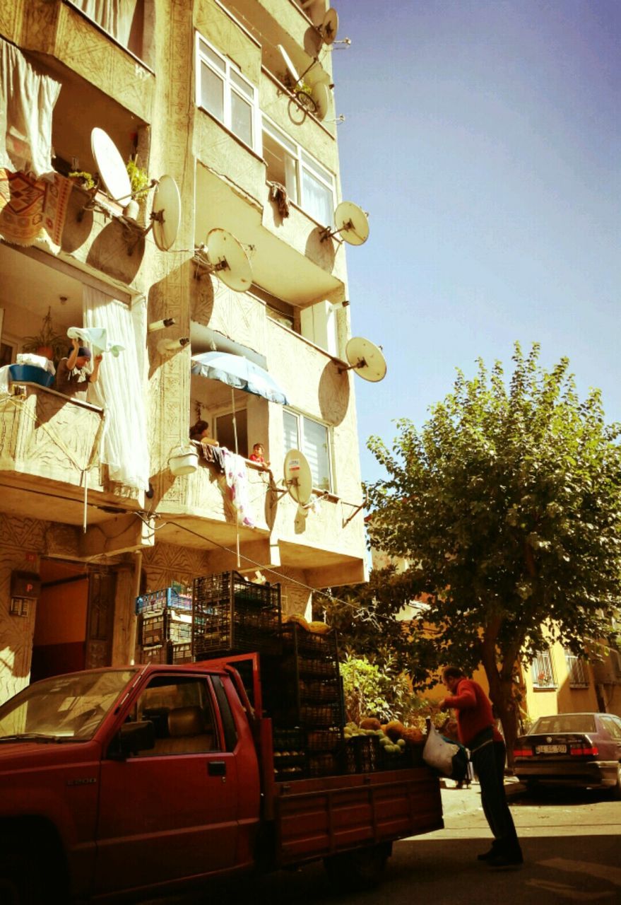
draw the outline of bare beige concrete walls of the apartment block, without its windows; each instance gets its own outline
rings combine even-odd
[[[242,12],[239,19],[233,6]],[[320,21],[324,4],[316,6],[309,12]],[[144,297],[147,322],[175,321],[173,327],[144,337],[153,490],[148,499],[142,491],[109,481],[97,460],[91,462],[85,494],[82,459],[89,457],[97,440],[99,412],[62,405],[56,397],[36,391],[29,391],[24,404],[10,411],[0,406],[0,481],[10,488],[0,499],[0,521],[7,526],[0,533],[0,700],[28,682],[35,629],[40,636],[45,631],[43,621],[36,624],[36,605],[27,616],[8,614],[15,569],[35,570],[50,558],[113,569],[110,661],[120,664],[134,656],[134,599],[141,583],[156,589],[237,567],[235,513],[223,477],[204,463],[185,477],[174,477],[169,469],[171,451],[187,443],[196,402],[202,401],[205,413],[215,416],[226,410],[228,401],[213,387],[202,400],[193,396],[194,339],[174,351],[163,351],[162,339],[190,337],[201,327],[231,338],[265,357],[270,375],[287,388],[296,411],[330,429],[334,487],[317,510],[300,513],[295,501],[282,493],[282,406],[251,395],[236,399],[246,411],[249,443],[266,444],[273,470],[269,476],[248,471],[257,523],[255,529],[240,531],[240,552],[247,557],[241,567],[249,573],[262,568],[269,580],[280,581],[286,612],[308,613],[311,587],[337,586],[365,576],[362,513],[348,520],[362,502],[354,378],[351,372],[339,374],[334,358],[297,332],[296,306],[324,301],[338,306],[348,298],[345,249],[331,239],[322,241],[321,228],[327,224],[315,222],[299,205],[292,205],[289,218],[280,217],[268,198],[265,161],[195,103],[198,30],[240,66],[259,92],[263,113],[334,174],[338,202],[334,123],[329,117],[325,123],[313,117],[296,123],[275,75],[276,43],[286,41],[310,60],[316,47],[308,42],[316,41],[316,30],[290,0],[239,0],[235,5],[145,0],[144,7],[145,33],[153,40],[136,57],[62,0],[0,0],[0,35],[14,42],[37,71],[61,81],[52,128],[58,157],[75,157],[80,169],[94,171],[90,129],[99,126],[122,157],[137,150],[149,176],[173,176],[181,197],[174,246],[162,252],[147,229],[152,195],[141,203],[139,223],[146,230],[141,235],[128,230],[109,199],[98,195],[91,209],[89,196],[74,188],[61,251],[52,253],[49,244],[37,243],[36,263],[33,257],[24,259],[19,275],[0,289],[4,331],[18,347],[47,308],[46,291],[52,293],[55,327],[63,331],[75,324],[84,284],[103,288],[127,304]],[[330,54],[322,57],[331,77]],[[296,310],[295,329],[270,319],[259,297],[233,291],[213,273],[198,271],[195,248],[212,228],[238,235],[249,249],[257,281],[267,281],[268,286],[261,283],[263,288]],[[0,252],[7,253],[4,245]],[[41,279],[35,271],[42,272]],[[61,308],[54,302],[64,276],[71,291],[68,307]],[[337,350],[343,357],[350,336],[349,310],[340,307],[334,317]],[[66,449],[54,447],[50,431],[71,437]],[[12,437],[21,445],[11,446]],[[150,527],[143,524],[145,513]],[[67,642],[71,619],[57,616]]]

